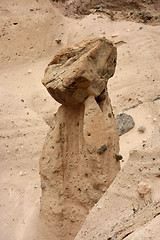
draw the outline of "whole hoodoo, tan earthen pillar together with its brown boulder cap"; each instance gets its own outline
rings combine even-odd
[[[74,57],[67,58],[66,53]],[[60,55],[65,60],[57,63]],[[46,70],[43,83],[47,87],[51,83],[48,90],[63,105],[51,123],[40,159],[45,186],[40,239],[73,239],[120,169],[115,157],[119,137],[106,89],[115,59],[116,49],[110,42],[94,39],[63,50]],[[80,89],[82,97],[77,94]]]

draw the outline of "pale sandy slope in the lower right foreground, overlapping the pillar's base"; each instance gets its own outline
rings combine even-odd
[[[145,149],[130,152],[124,169],[91,210],[76,240],[160,239],[159,140],[160,126]]]

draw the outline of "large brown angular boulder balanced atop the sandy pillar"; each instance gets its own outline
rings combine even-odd
[[[113,76],[117,52],[105,38],[82,41],[55,55],[43,84],[58,102],[77,105],[93,95],[98,97]]]

